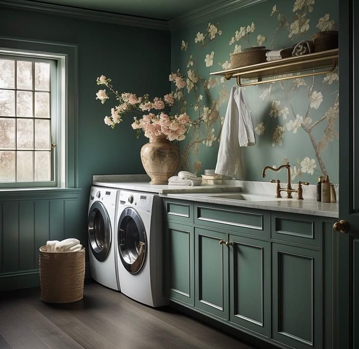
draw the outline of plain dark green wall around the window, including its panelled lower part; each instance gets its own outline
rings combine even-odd
[[[93,174],[144,173],[140,148],[147,139],[136,139],[132,116],[116,130],[103,123],[109,105],[95,100],[96,78],[111,77],[120,91],[163,96],[170,90],[171,53],[169,32],[5,8],[0,10],[1,36],[78,45],[78,187],[82,191],[0,194],[0,290],[38,282],[38,248],[48,238],[72,236],[87,243]]]

